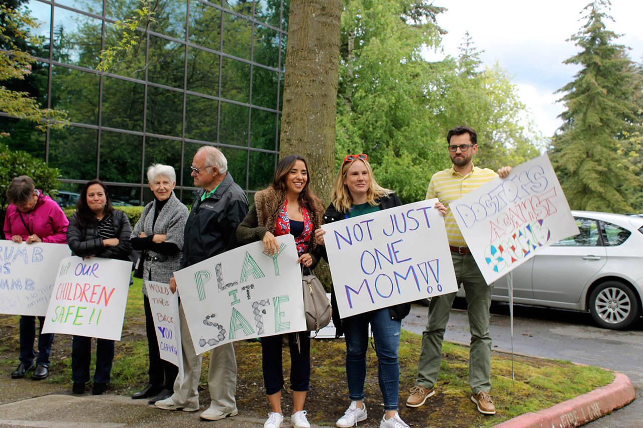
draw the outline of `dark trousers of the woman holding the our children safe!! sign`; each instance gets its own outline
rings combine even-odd
[[[94,383],[109,383],[113,361],[114,341],[96,339]],[[91,362],[91,337],[74,336],[71,341],[71,380],[73,382],[89,382],[89,362]]]

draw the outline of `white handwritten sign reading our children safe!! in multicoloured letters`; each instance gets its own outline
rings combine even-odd
[[[120,341],[131,272],[123,260],[64,258],[42,332]]]

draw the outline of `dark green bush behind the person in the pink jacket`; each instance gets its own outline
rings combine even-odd
[[[0,211],[3,217],[8,205],[6,188],[18,175],[32,177],[37,189],[54,197],[57,195],[56,189],[60,184],[57,180],[60,171],[57,168],[50,168],[27,152],[14,151],[0,143]]]

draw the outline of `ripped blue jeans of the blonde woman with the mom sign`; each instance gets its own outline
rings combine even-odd
[[[400,346],[402,321],[391,319],[388,308],[347,317],[342,320],[346,339],[346,379],[350,400],[364,399],[368,323],[373,331],[377,354],[377,379],[384,398],[385,410],[397,410],[400,368],[397,351]]]

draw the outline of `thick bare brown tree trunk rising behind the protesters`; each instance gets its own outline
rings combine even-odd
[[[341,8],[341,0],[291,0],[285,56],[280,157],[306,158],[325,203],[335,177]]]

